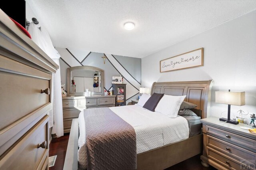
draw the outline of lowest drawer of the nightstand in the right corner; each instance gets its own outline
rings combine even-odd
[[[218,152],[217,150],[214,150],[210,147],[206,148],[207,156],[221,164],[222,166],[225,166],[226,168],[230,170],[239,170],[239,169],[250,169],[250,170],[255,170],[254,164],[244,164],[244,160],[236,161],[221,152]],[[250,168],[252,167],[252,168]]]

